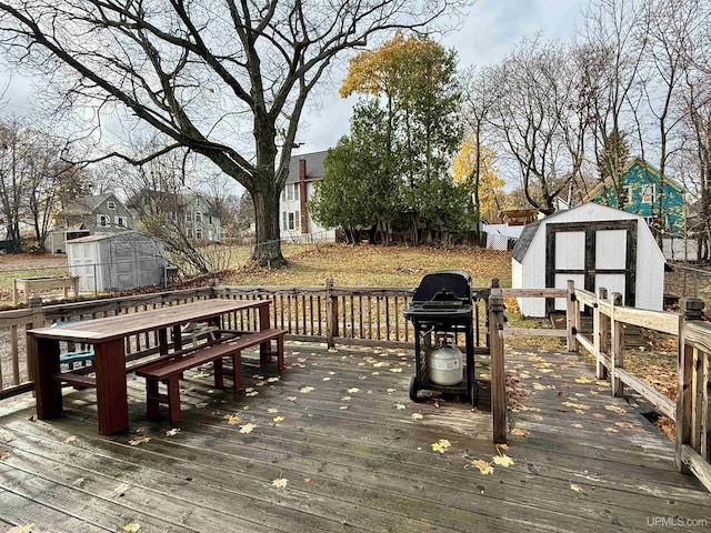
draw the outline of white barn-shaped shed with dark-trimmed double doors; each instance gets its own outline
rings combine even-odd
[[[585,203],[528,224],[511,258],[511,285],[522,289],[577,288],[619,292],[625,305],[661,310],[664,257],[640,215]],[[525,316],[545,316],[551,302],[519,299]],[[555,310],[565,302],[557,299]]]

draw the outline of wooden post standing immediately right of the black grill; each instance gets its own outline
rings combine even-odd
[[[491,281],[489,293],[489,348],[491,354],[491,414],[493,442],[507,442],[507,376],[503,364],[503,294],[499,280]]]

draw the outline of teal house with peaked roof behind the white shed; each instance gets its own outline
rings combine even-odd
[[[657,193],[662,187],[663,231],[667,235],[683,237],[684,195],[682,187],[664,175],[660,180],[659,170],[640,158],[633,159],[622,173],[622,184],[627,190],[627,202],[622,207],[628,213],[639,214],[652,225],[657,209]],[[597,185],[584,200],[602,205],[617,207],[617,192],[612,179]]]

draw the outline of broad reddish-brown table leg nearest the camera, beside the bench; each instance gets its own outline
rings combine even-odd
[[[99,433],[110,435],[129,426],[123,340],[94,345]]]

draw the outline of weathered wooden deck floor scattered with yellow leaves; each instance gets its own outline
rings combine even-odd
[[[27,401],[0,404],[0,530],[711,527],[711,496],[674,471],[672,443],[577,354],[507,351],[520,384],[505,452],[514,464],[488,475],[472,462],[498,454],[490,413],[412,403],[411,352],[288,343],[287,365],[280,375],[246,368],[249,396],[187,375],[170,434],[167,416],[146,420],[144,383],[132,376],[130,433],[99,435],[92,391],[68,391],[64,415],[49,422]],[[442,439],[451,447],[438,453]]]

